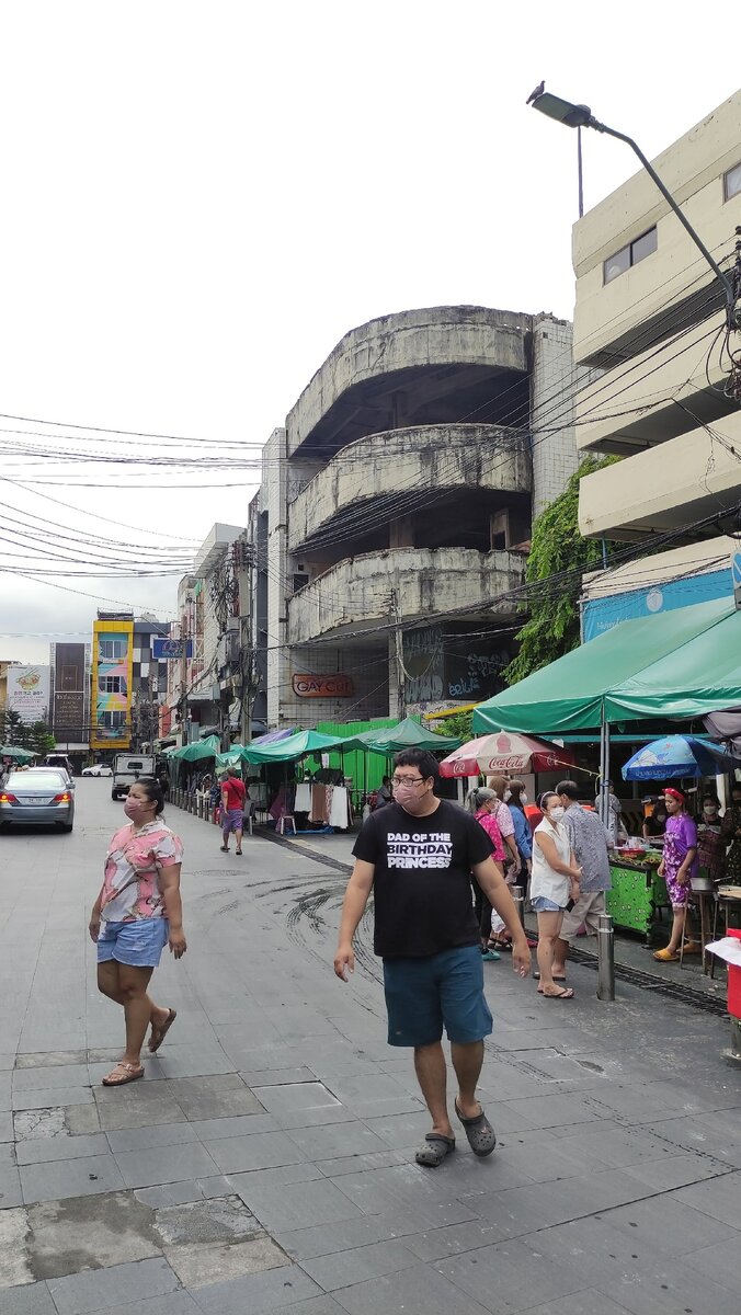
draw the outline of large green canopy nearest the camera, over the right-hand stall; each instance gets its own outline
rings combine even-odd
[[[741,613],[715,598],[625,621],[474,709],[474,731],[559,735],[741,704]]]

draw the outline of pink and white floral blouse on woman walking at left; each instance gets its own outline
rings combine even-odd
[[[182,840],[159,818],[134,835],[133,825],[116,831],[105,855],[100,915],[105,922],[163,918],[159,871],[183,860]]]

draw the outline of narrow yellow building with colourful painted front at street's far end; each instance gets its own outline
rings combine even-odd
[[[130,748],[133,659],[133,617],[99,613],[92,626],[92,750]]]

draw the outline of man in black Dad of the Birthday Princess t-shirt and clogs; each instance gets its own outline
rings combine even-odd
[[[432,1115],[432,1132],[416,1159],[437,1168],[455,1148],[445,1094],[444,1027],[458,1078],[455,1112],[471,1149],[487,1156],[496,1145],[475,1094],[492,1018],[483,993],[471,873],[507,924],[513,968],[521,977],[530,970],[530,951],[486,831],[458,805],[436,797],[432,753],[404,750],[394,767],[394,802],[371,813],[353,849],[355,867],[342,905],[334,972],[344,981],[354,972],[353,936],[372,889],[388,1043],[415,1049],[417,1081]]]

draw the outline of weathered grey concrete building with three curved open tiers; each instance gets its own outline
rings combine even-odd
[[[533,509],[576,469],[570,326],[438,306],[342,338],[250,508],[258,726],[487,697]]]

